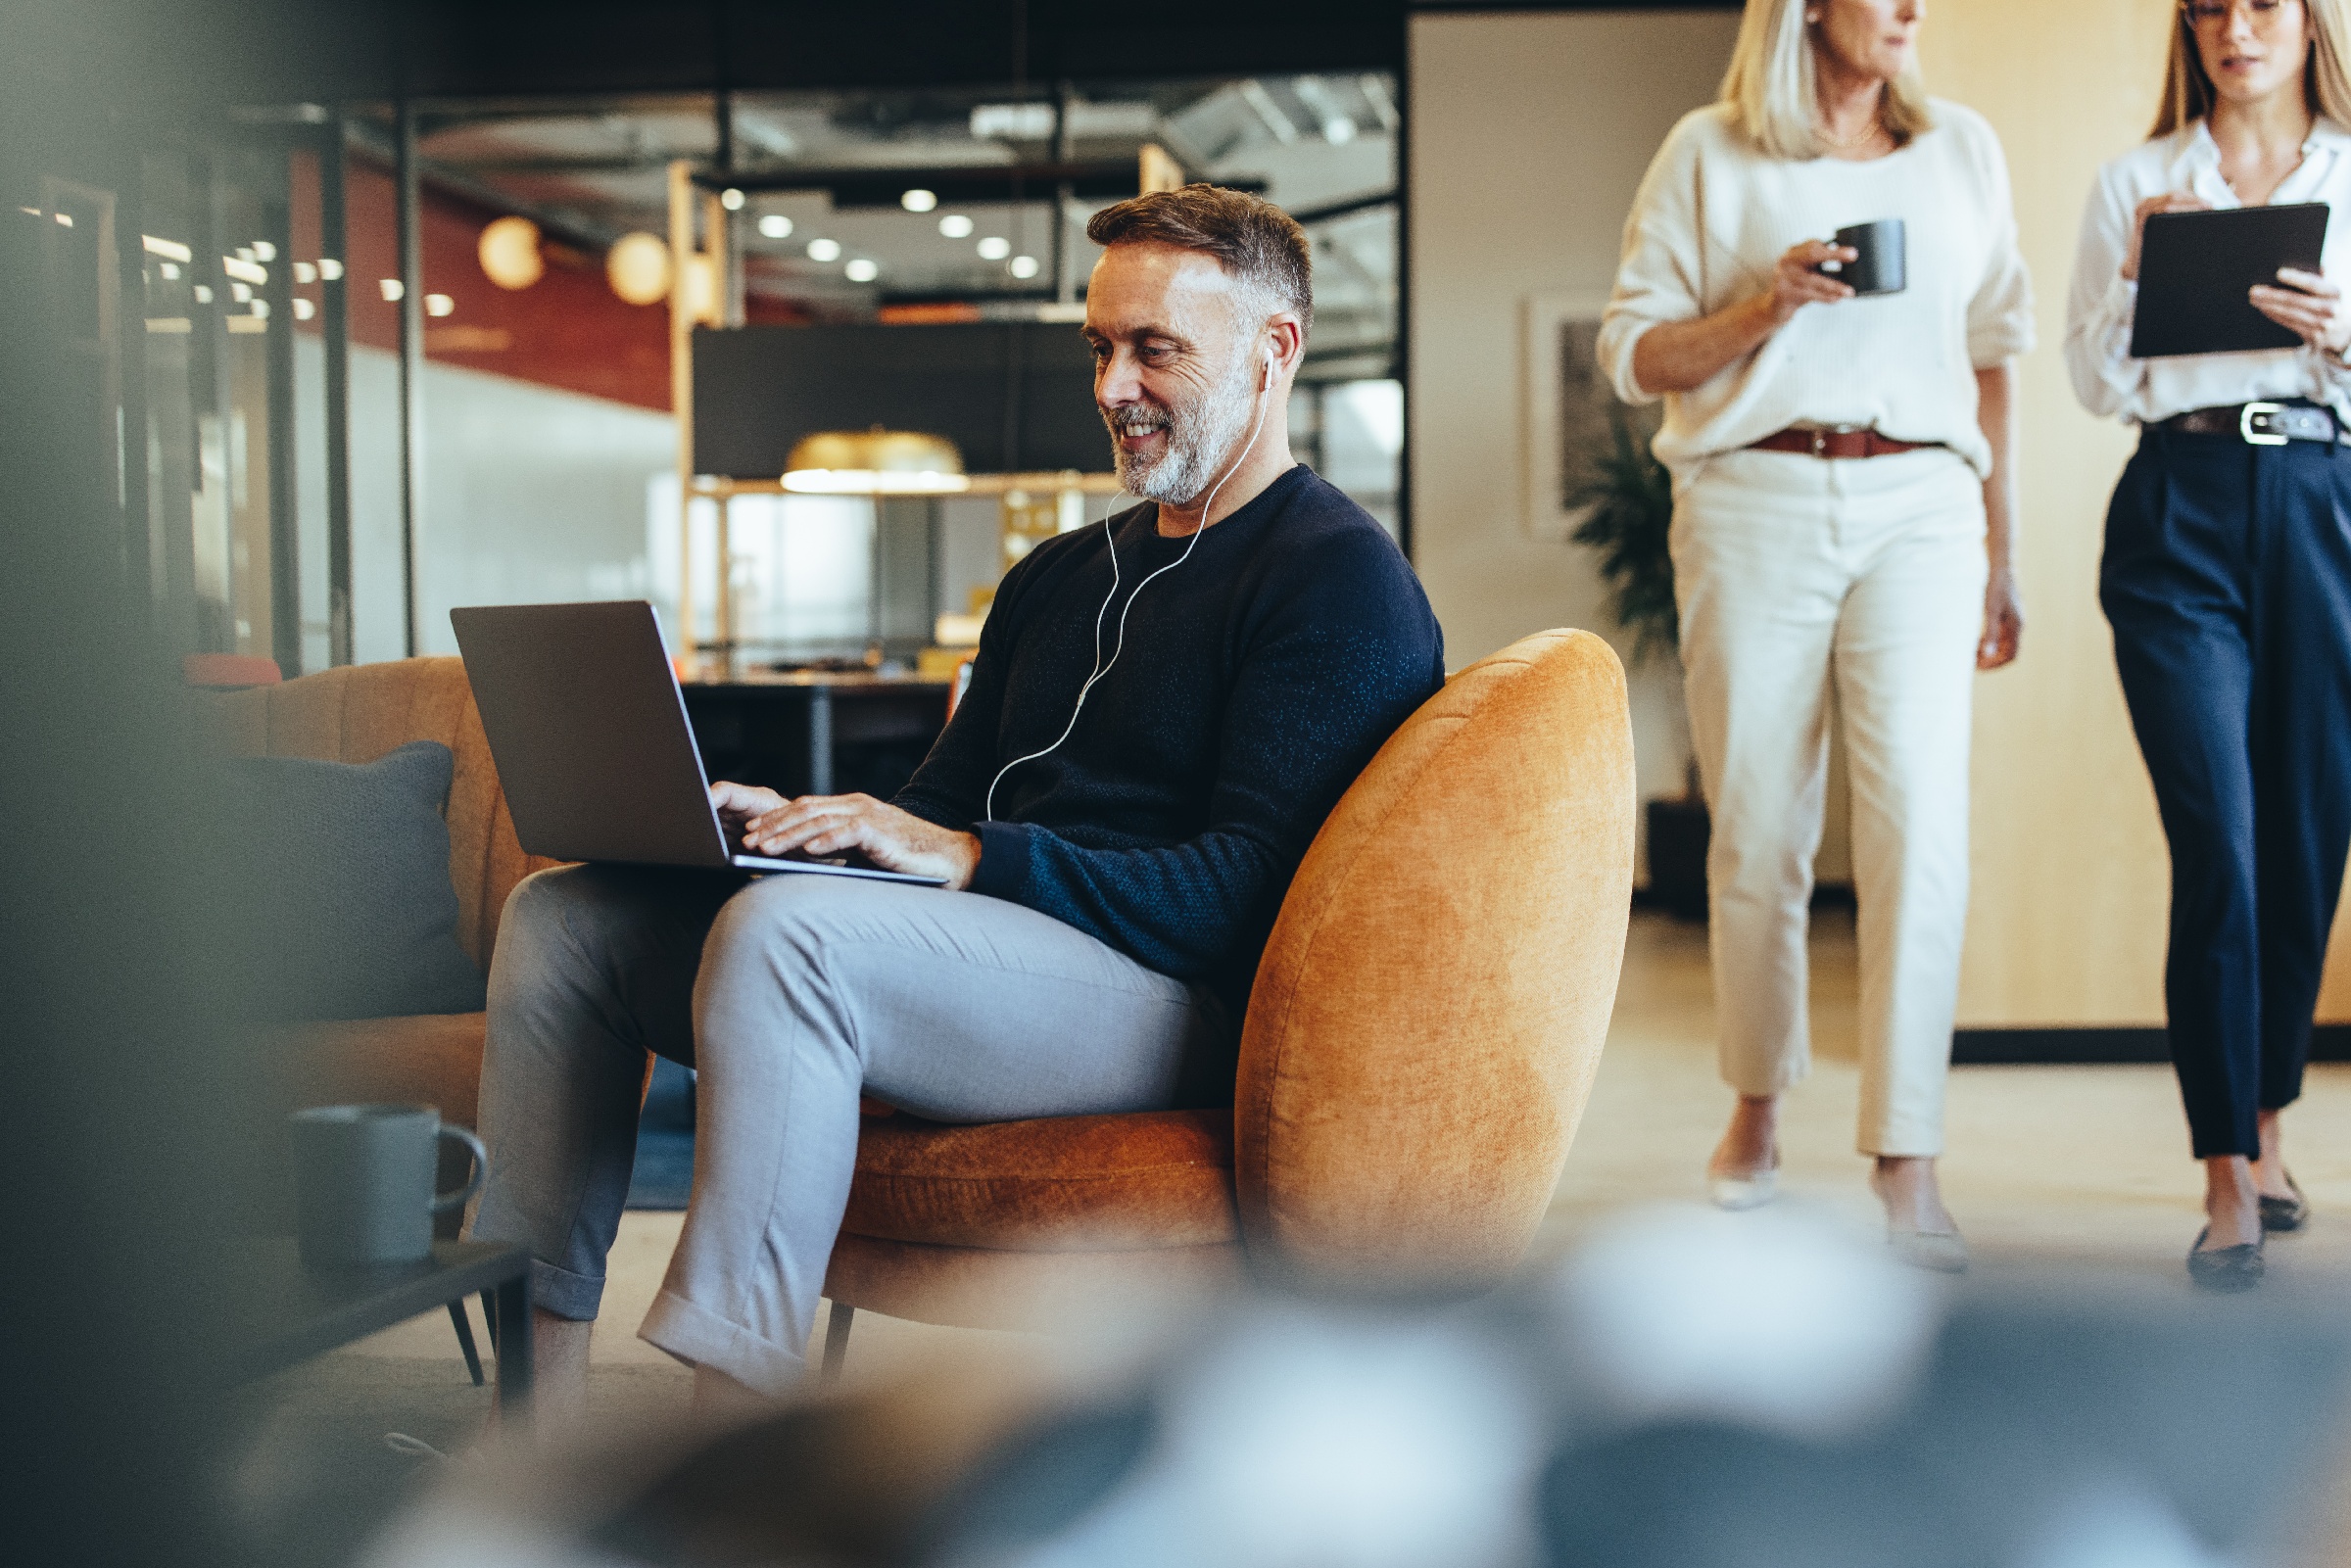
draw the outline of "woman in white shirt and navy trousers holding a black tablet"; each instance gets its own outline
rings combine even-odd
[[[2189,1274],[2262,1276],[2264,1229],[2306,1215],[2278,1112],[2351,849],[2351,78],[2339,0],[2184,0],[2154,136],[2083,214],[2067,369],[2139,425],[2106,510],[2099,602],[2172,846],[2172,1063],[2205,1161]],[[2252,303],[2302,348],[2132,360],[2158,212],[2327,202],[2325,277]]]

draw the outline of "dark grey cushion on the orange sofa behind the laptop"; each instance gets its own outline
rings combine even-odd
[[[447,745],[411,741],[367,764],[240,757],[228,769],[263,1013],[482,1009],[482,971],[456,945]]]

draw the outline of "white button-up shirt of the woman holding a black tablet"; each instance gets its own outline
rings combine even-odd
[[[2243,207],[2219,176],[2219,146],[2203,120],[2156,136],[2097,172],[2097,188],[2081,214],[2074,292],[2064,310],[2064,364],[2083,407],[2149,423],[2189,409],[2309,397],[2351,423],[2351,369],[2316,348],[2130,357],[2130,313],[2139,301],[2139,284],[2123,277],[2130,223],[2139,202],[2168,190],[2212,207]],[[2351,209],[2351,132],[2332,120],[2313,122],[2302,162],[2269,200]],[[2351,223],[2339,214],[2327,221],[2320,263],[2327,277],[2351,277]]]

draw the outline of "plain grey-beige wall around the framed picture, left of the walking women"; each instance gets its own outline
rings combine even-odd
[[[1592,555],[1521,527],[1519,310],[1608,292],[1641,172],[1714,96],[1735,31],[1728,12],[1413,16],[1413,557],[1453,668],[1549,625],[1615,635]],[[1641,797],[1674,795],[1679,672],[1632,670],[1632,701]]]

